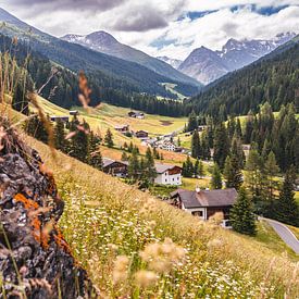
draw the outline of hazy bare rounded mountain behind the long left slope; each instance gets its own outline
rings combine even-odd
[[[105,32],[100,30],[86,36],[65,35],[61,39],[82,45],[101,53],[136,62],[173,80],[199,86],[198,82],[176,71],[167,63],[119,42],[112,35]]]

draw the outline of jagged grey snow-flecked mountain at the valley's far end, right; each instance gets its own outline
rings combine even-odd
[[[231,38],[221,51],[204,47],[194,50],[178,70],[203,84],[239,70],[295,37],[294,33],[281,34],[271,40],[236,40]]]

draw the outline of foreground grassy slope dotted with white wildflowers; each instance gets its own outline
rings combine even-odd
[[[54,173],[66,202],[60,226],[103,297],[299,295],[296,264],[287,254],[254,238],[202,224],[64,154],[53,158],[47,146],[33,138],[26,140]],[[176,245],[169,239],[161,245],[165,238]],[[157,260],[161,250],[163,258]],[[151,254],[155,263],[147,259]]]

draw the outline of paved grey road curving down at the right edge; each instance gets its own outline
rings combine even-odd
[[[285,224],[271,219],[261,217],[261,220],[266,221],[274,228],[277,235],[284,240],[284,242],[297,254],[299,254],[299,240]]]

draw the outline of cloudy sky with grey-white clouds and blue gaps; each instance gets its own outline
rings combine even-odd
[[[0,0],[0,7],[54,36],[107,30],[152,55],[185,59],[228,38],[299,33],[299,0]]]

